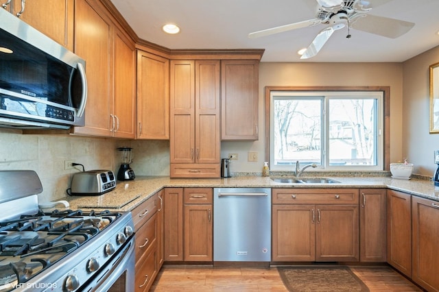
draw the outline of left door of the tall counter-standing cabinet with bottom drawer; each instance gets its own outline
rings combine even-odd
[[[171,60],[171,163],[195,160],[195,62]]]

